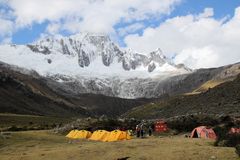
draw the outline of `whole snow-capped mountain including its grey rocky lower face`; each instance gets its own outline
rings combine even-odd
[[[123,50],[108,36],[92,33],[2,45],[0,61],[35,70],[67,92],[123,98],[154,97],[155,83],[191,72],[171,63],[160,49],[148,54]]]

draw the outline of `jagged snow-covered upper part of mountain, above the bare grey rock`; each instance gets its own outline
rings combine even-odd
[[[149,54],[123,50],[102,33],[83,32],[68,37],[46,37],[26,46],[0,49],[8,54],[1,55],[4,62],[33,69],[43,75],[147,78],[189,72],[184,67],[178,68],[170,63],[160,48]],[[9,58],[9,55],[16,59]],[[19,58],[21,61],[17,60]]]

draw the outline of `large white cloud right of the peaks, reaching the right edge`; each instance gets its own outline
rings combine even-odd
[[[160,47],[176,63],[192,68],[216,67],[240,61],[240,7],[228,21],[214,19],[213,9],[199,15],[168,19],[143,35],[129,35],[125,43],[140,52]]]

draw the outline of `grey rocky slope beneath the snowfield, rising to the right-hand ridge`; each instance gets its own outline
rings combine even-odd
[[[215,87],[236,78],[240,73],[239,67],[240,63],[220,68],[199,69],[188,74],[165,77],[162,80],[155,78],[119,79],[118,77],[101,79],[100,77],[86,78],[81,76],[76,80],[72,77],[62,76],[63,82],[60,84],[49,82],[48,86],[64,95],[95,93],[112,97],[159,98],[166,95],[204,92],[209,87]],[[51,79],[58,81],[58,76],[60,75],[51,76]],[[209,86],[210,82],[214,85]]]

